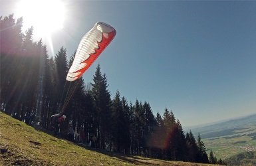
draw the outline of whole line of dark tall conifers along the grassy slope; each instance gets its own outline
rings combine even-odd
[[[200,135],[184,133],[182,124],[166,108],[154,116],[150,104],[133,104],[117,90],[111,98],[106,74],[96,67],[92,82],[78,78],[66,82],[74,54],[66,48],[55,57],[42,40],[33,41],[33,27],[22,32],[23,18],[0,17],[1,98],[0,110],[18,120],[51,129],[51,116],[64,114],[61,133],[68,128],[96,136],[96,147],[108,151],[156,159],[209,163]],[[215,162],[215,160],[214,160]]]

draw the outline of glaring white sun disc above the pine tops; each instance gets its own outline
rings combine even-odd
[[[51,35],[63,28],[65,6],[61,0],[21,0],[16,12],[23,17],[23,27],[33,26],[35,35]]]

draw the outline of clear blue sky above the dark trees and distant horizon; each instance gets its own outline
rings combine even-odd
[[[256,113],[256,1],[62,2],[63,28],[35,39],[70,57],[96,22],[112,25],[115,39],[83,75],[92,82],[100,64],[112,98],[168,108],[185,127]],[[18,3],[1,0],[1,15]]]

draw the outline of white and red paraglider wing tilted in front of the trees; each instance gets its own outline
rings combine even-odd
[[[114,39],[116,30],[106,23],[98,22],[82,37],[74,61],[70,66],[66,80],[78,79],[98,58],[101,52]]]

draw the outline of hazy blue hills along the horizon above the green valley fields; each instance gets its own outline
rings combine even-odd
[[[246,129],[251,125],[256,125],[256,114],[251,116],[245,116],[243,118],[237,118],[233,120],[227,120],[217,124],[205,125],[203,127],[192,127],[184,129],[185,131],[192,130],[194,135],[200,133],[201,138],[213,138],[221,137],[225,135],[235,134],[235,131],[240,129]]]

